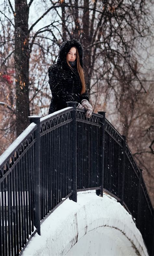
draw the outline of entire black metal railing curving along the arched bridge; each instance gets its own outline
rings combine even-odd
[[[68,197],[76,202],[77,191],[88,189],[117,198],[153,255],[154,215],[142,170],[105,112],[88,119],[69,102],[30,122],[0,157],[0,255],[22,254],[59,204]]]

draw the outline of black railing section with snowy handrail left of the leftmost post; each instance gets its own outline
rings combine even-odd
[[[34,132],[31,124],[0,161],[0,255],[19,255],[34,231]]]

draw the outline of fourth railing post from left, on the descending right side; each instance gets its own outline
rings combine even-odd
[[[124,173],[125,173],[125,150],[126,150],[126,136],[122,135],[122,166],[121,166],[121,192],[120,192],[120,203],[123,205],[123,192],[124,192]]]

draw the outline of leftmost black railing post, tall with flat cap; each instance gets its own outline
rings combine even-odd
[[[34,226],[37,229],[37,233],[41,235],[40,221],[41,221],[41,191],[40,191],[40,117],[39,116],[29,116],[30,123],[35,123],[37,129],[34,131],[34,138],[36,141],[34,143]]]

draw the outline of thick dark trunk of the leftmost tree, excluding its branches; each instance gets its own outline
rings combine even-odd
[[[26,0],[15,0],[15,70],[17,136],[29,125],[29,8]]]

